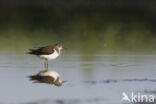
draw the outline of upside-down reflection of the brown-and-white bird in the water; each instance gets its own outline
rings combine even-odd
[[[48,83],[54,84],[56,86],[62,86],[66,81],[60,79],[60,75],[54,70],[43,70],[36,75],[29,76],[30,80],[33,80],[34,83]]]

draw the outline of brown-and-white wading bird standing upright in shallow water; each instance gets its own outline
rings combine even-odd
[[[34,49],[29,49],[28,54],[36,55],[41,59],[44,59],[45,70],[48,70],[48,61],[56,59],[59,55],[63,46],[61,43],[56,43],[54,45],[38,47]]]

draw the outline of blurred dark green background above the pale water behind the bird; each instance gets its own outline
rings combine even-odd
[[[156,50],[154,0],[1,0],[0,47],[61,42],[71,50]]]

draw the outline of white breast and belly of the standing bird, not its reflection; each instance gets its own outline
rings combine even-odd
[[[53,59],[56,59],[58,56],[59,56],[59,53],[57,53],[57,51],[54,49],[54,52],[52,54],[40,55],[39,57],[41,59],[53,60]]]

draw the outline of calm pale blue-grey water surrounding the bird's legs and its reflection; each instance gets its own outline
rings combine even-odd
[[[27,76],[43,69],[35,56],[1,52],[0,58],[2,104],[124,104],[122,92],[151,94],[156,86],[156,55],[150,53],[63,52],[49,62],[49,69],[68,80],[61,87],[29,81]]]

